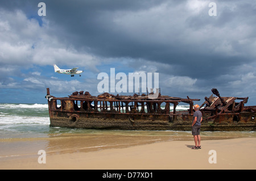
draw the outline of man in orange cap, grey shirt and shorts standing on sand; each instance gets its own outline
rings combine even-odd
[[[200,137],[200,127],[201,122],[203,120],[203,116],[201,111],[199,111],[200,106],[195,105],[194,110],[195,113],[193,115],[193,122],[192,122],[192,135],[194,136],[195,146],[191,149],[201,149],[201,137]]]

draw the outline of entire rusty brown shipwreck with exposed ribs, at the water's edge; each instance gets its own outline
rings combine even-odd
[[[255,131],[256,106],[245,106],[248,98],[221,97],[217,89],[212,92],[216,96],[205,97],[200,107],[202,131]],[[56,98],[47,88],[50,127],[191,131],[193,105],[200,99],[149,96],[92,96],[80,91]],[[188,110],[177,111],[179,103],[187,104]]]

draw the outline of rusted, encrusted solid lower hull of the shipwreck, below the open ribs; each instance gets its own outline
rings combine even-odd
[[[176,121],[172,121],[173,117],[176,117]],[[50,127],[148,131],[191,131],[192,117],[193,115],[184,114],[184,112],[176,115],[125,115],[120,113],[53,111],[52,116],[50,117]],[[255,123],[224,123],[210,125],[208,122],[203,122],[201,125],[201,131],[256,131]]]

